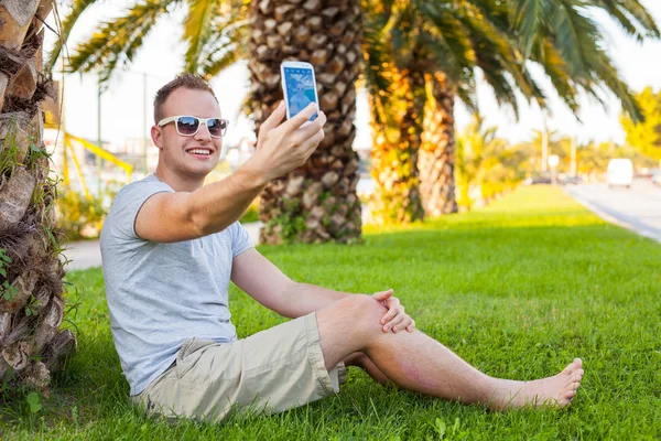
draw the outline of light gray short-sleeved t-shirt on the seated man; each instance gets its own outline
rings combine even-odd
[[[252,248],[238,222],[194,240],[141,239],[136,216],[161,192],[174,190],[153,175],[124,186],[101,230],[110,326],[131,395],[172,365],[186,338],[236,340],[227,293],[231,263]]]

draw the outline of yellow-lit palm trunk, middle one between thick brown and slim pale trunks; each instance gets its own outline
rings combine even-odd
[[[420,197],[418,153],[421,146],[424,74],[414,57],[399,66],[383,40],[388,25],[381,2],[364,2],[367,11],[364,56],[372,126],[371,175],[375,192],[369,209],[379,224],[424,217]]]

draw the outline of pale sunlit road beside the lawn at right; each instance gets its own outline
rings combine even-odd
[[[599,217],[661,241],[661,186],[636,180],[630,189],[608,189],[606,184],[564,189]]]

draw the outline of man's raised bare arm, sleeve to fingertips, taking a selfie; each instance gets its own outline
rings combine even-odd
[[[194,192],[158,193],[140,208],[136,233],[145,240],[173,243],[221,232],[239,219],[264,185],[305,163],[324,139],[326,116],[311,105],[289,121],[284,104],[259,130],[257,151],[227,179]]]

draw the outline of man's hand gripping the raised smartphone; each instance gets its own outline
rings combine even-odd
[[[308,121],[316,112],[316,104],[312,103],[281,123],[286,110],[284,101],[280,101],[278,108],[261,125],[257,150],[245,168],[254,170],[267,183],[303,165],[324,139],[326,115],[319,111],[314,121]]]

